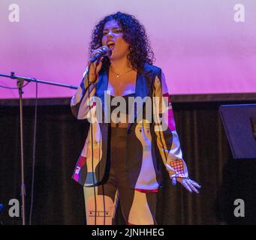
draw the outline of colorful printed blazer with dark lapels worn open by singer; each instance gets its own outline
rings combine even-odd
[[[104,184],[110,169],[108,154],[110,125],[104,121],[106,119],[106,111],[104,110],[107,109],[105,106],[107,99],[104,99],[104,92],[107,91],[108,83],[107,72],[101,70],[98,74],[98,80],[92,84],[86,80],[86,71],[79,89],[71,99],[72,113],[78,119],[88,119],[90,115],[94,115],[98,119],[98,114],[95,112],[98,107],[101,108],[99,112],[103,113],[102,121],[91,121],[89,124],[86,142],[74,169],[74,180],[87,187]],[[96,97],[101,100],[101,103],[95,101]],[[161,97],[165,97],[164,99],[167,99],[167,101],[160,100],[159,107],[152,110],[158,116],[158,120],[161,120],[161,124],[160,120],[150,122],[144,118],[136,121],[138,114],[142,113],[144,116],[145,102],[142,107],[135,107],[135,121],[129,123],[127,128],[126,148],[128,154],[125,159],[125,169],[129,184],[135,190],[157,191],[162,181],[160,160],[166,166],[170,177],[188,177],[185,161],[182,160],[179,136],[176,133],[173,110],[161,68],[146,64],[143,71],[137,73],[136,97],[143,99],[145,97],[150,99],[153,97],[163,99]],[[153,104],[154,101],[152,101]],[[164,104],[165,110],[167,110],[165,114],[163,113]],[[167,120],[164,120],[163,115],[167,116]],[[166,127],[162,127],[163,122]]]

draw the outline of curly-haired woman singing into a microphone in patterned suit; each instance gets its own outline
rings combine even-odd
[[[152,65],[144,27],[126,13],[104,17],[90,59],[105,49],[107,56],[89,61],[71,100],[74,116],[90,126],[73,175],[84,187],[86,223],[112,224],[120,202],[127,224],[156,224],[161,161],[173,184],[196,193],[200,185],[188,178],[167,84]]]

